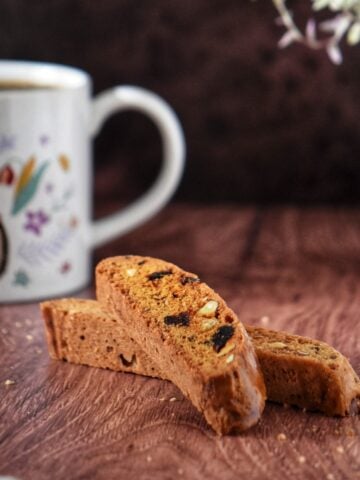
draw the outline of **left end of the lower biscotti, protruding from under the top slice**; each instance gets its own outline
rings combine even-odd
[[[40,308],[51,358],[162,377],[151,359],[96,300],[51,300],[41,303]]]

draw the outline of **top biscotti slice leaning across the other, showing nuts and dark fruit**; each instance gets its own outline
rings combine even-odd
[[[216,432],[259,420],[265,386],[251,341],[196,275],[150,257],[113,257],[97,266],[96,288],[98,300]]]

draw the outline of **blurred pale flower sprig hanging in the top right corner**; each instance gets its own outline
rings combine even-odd
[[[360,42],[360,0],[311,0],[312,9],[316,12],[328,9],[335,12],[334,18],[316,23],[308,20],[305,32],[296,25],[286,0],[272,0],[280,14],[278,23],[286,28],[279,41],[279,46],[285,48],[291,43],[300,42],[314,49],[325,49],[335,64],[342,62],[340,42],[346,37],[349,45]],[[319,38],[318,32],[324,32],[325,37]]]

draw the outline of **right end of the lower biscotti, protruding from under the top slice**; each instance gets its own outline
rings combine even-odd
[[[360,412],[360,380],[350,362],[325,342],[247,326],[268,398],[327,415]]]

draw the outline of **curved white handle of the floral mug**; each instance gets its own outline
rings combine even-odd
[[[146,114],[158,127],[163,144],[162,168],[153,185],[141,197],[121,212],[93,222],[92,248],[129,232],[161,210],[176,190],[184,169],[185,140],[176,114],[162,98],[143,88],[115,87],[95,97],[91,135],[99,132],[109,115],[128,109]]]

